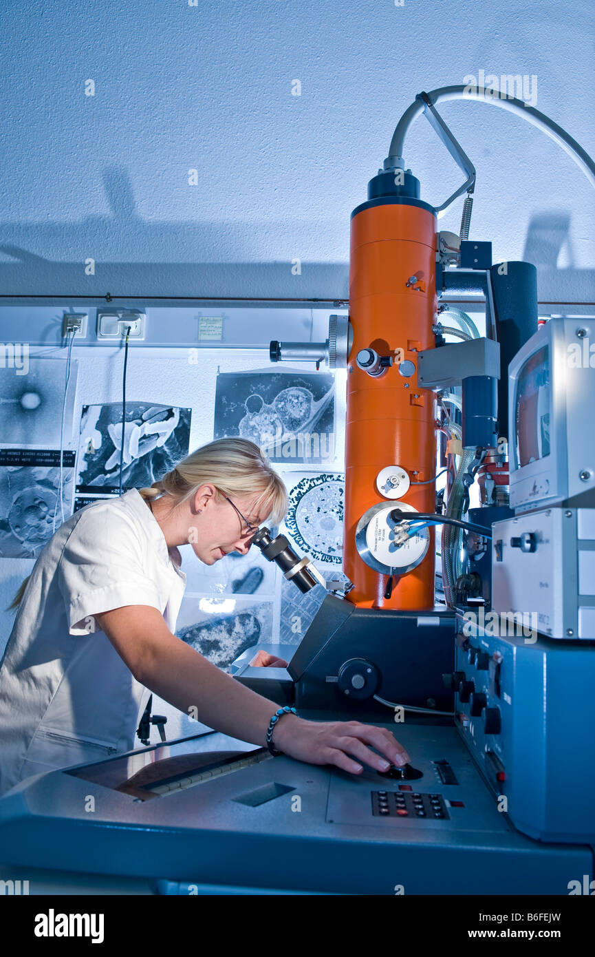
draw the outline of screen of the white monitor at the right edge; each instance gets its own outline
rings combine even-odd
[[[550,454],[550,385],[549,347],[544,345],[527,359],[518,373],[515,412],[518,467]]]

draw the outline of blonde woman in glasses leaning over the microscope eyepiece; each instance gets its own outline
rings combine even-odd
[[[174,633],[186,575],[178,545],[213,565],[245,555],[287,512],[257,445],[221,438],[150,488],[95,501],[63,523],[12,602],[0,667],[0,794],[31,774],[130,750],[149,692],[234,738],[352,773],[404,765],[383,728],[304,721],[220,671]],[[259,652],[255,664],[275,664]],[[286,664],[286,662],[281,662]],[[147,690],[148,689],[148,690]],[[274,737],[272,732],[274,729]],[[373,746],[384,757],[370,749]],[[386,760],[388,759],[388,760]]]

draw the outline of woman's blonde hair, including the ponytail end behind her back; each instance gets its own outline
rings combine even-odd
[[[215,486],[216,501],[223,501],[226,495],[244,498],[258,493],[253,512],[260,515],[262,509],[271,525],[276,525],[287,515],[289,499],[282,479],[267,456],[247,438],[215,438],[183,458],[161,479],[140,488],[139,492],[144,500],[165,493],[172,498],[175,508],[191,499],[205,484]],[[7,612],[20,605],[29,578],[14,595]]]

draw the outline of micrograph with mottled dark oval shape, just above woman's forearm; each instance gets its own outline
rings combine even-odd
[[[253,645],[270,644],[273,637],[274,604],[248,596],[185,595],[178,614],[176,635],[229,671],[231,662]]]

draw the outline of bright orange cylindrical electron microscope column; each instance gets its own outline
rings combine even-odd
[[[434,482],[411,484],[401,499],[387,500],[376,476],[386,465],[402,466],[411,482],[435,475],[435,394],[417,388],[416,372],[402,376],[398,363],[409,360],[417,368],[417,353],[435,345],[436,232],[430,210],[403,202],[370,206],[351,220],[343,569],[354,586],[347,600],[361,608],[428,610],[434,604],[433,527],[425,558],[407,574],[395,575],[388,599],[388,577],[365,565],[355,532],[364,512],[378,502],[435,511]],[[408,285],[411,277],[418,281]],[[393,356],[393,365],[379,377],[356,364],[358,352],[368,347]]]

